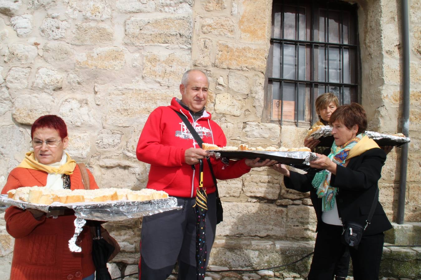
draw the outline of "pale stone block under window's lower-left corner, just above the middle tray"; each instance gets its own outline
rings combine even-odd
[[[264,141],[277,144],[280,141],[281,129],[275,123],[247,122],[242,129],[241,139],[250,142]]]

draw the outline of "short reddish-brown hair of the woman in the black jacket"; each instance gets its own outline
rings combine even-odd
[[[332,125],[335,121],[343,123],[348,129],[357,125],[357,135],[367,129],[367,114],[365,114],[364,108],[357,103],[346,104],[336,108],[335,112],[330,115],[329,124]]]

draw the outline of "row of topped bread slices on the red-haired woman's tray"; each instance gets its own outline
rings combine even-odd
[[[101,188],[95,190],[53,190],[44,187],[21,187],[7,192],[8,197],[14,200],[35,204],[51,204],[53,202],[102,202],[116,200],[145,201],[151,199],[168,198],[165,191],[156,191],[149,188],[132,191],[128,188]]]

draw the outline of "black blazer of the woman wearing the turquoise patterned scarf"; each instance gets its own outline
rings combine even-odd
[[[328,153],[327,149],[324,154]],[[350,159],[346,167],[340,165],[336,167],[336,175],[332,174],[330,185],[338,188],[336,204],[343,223],[352,221],[365,225],[378,188],[378,180],[381,178],[381,167],[385,160],[384,151],[373,148]],[[290,171],[289,178],[284,176],[284,183],[287,188],[296,191],[310,191],[318,225],[322,221],[322,199],[317,197],[316,189],[312,186],[314,175],[315,173],[299,174]],[[390,228],[392,225],[387,219],[383,207],[377,201],[371,223],[363,235],[382,233]]]

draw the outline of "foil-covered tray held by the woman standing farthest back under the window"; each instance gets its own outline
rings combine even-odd
[[[317,131],[310,134],[309,138],[319,139],[321,147],[330,147],[333,144],[334,138],[331,134],[331,126],[322,126]],[[373,139],[380,147],[382,146],[396,146],[400,147],[403,144],[409,143],[409,137],[394,136],[385,133],[378,133],[374,131],[365,131],[365,134]]]

